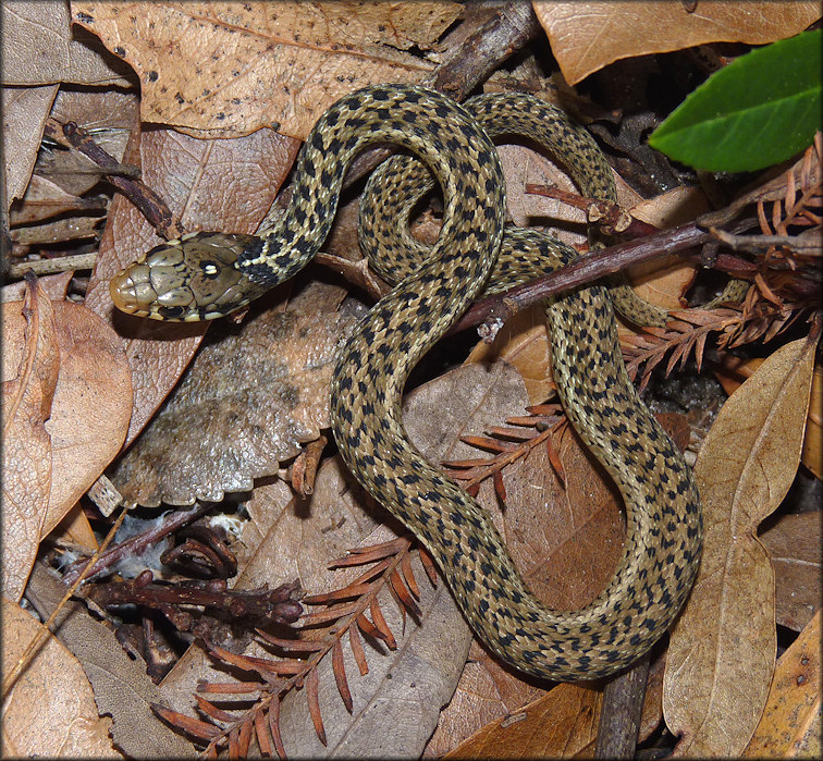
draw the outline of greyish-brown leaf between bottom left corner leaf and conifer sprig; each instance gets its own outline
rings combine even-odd
[[[35,564],[26,600],[42,618],[51,615],[64,594],[58,577]],[[112,717],[111,736],[121,751],[133,759],[194,757],[192,744],[151,711],[150,703],[159,701],[161,692],[146,674],[146,664],[125,652],[105,622],[88,615],[82,603],[70,601],[52,628],[83,666],[99,713]],[[93,753],[89,749],[81,754]]]

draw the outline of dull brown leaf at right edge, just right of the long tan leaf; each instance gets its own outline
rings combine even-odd
[[[807,433],[808,439],[808,433]],[[777,623],[799,631],[821,600],[823,536],[820,512],[782,515],[760,535],[774,567]]]

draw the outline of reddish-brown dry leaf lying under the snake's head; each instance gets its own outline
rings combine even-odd
[[[142,165],[144,182],[181,214],[188,230],[235,233],[257,229],[299,147],[271,130],[213,142],[196,140],[171,130],[132,137],[124,160]],[[123,336],[132,365],[135,397],[126,445],[177,382],[207,329],[206,323],[156,322],[114,309],[109,280],[139,251],[160,242],[140,212],[116,196],[86,295],[86,305],[112,321]]]

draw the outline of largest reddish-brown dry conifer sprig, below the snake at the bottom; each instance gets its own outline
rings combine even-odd
[[[388,589],[394,599],[405,625],[406,613],[420,615],[416,600],[420,597],[410,557],[412,542],[400,538],[382,544],[352,550],[346,557],[334,561],[331,567],[359,567],[371,564],[354,580],[324,594],[303,598],[316,610],[304,615],[299,626],[304,638],[284,639],[258,629],[261,643],[273,647],[282,656],[256,658],[238,655],[213,643],[206,642],[210,654],[226,665],[257,674],[259,680],[239,683],[201,683],[198,685],[197,704],[205,717],[194,719],[162,705],[152,705],[167,722],[180,728],[195,740],[206,742],[204,753],[217,758],[221,747],[228,747],[232,758],[247,756],[251,739],[257,740],[260,752],[285,758],[280,733],[280,702],[295,689],[306,688],[309,714],[320,741],[325,745],[325,729],[320,714],[319,676],[320,661],[331,653],[332,672],[346,710],[352,713],[354,703],[343,661],[343,637],[348,635],[348,645],[360,675],[369,671],[363,637],[381,641],[390,650],[397,647],[378,601],[378,592]],[[432,584],[437,573],[431,559],[423,552],[420,561]],[[369,618],[369,616],[371,616]],[[220,708],[204,695],[219,695],[254,701],[250,708],[239,712]]]

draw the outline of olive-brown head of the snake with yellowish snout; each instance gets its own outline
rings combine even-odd
[[[192,322],[223,317],[268,290],[237,266],[254,235],[191,233],[144,254],[112,278],[118,309],[155,320]]]

